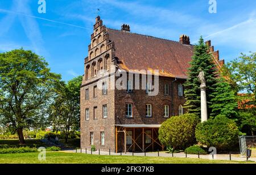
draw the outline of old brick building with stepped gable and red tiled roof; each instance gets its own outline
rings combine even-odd
[[[217,67],[224,64],[210,41],[206,44]],[[110,29],[97,16],[81,85],[81,148],[95,145],[117,152],[162,148],[158,140],[160,124],[185,112],[183,83],[192,55],[188,36],[181,35],[177,42],[131,33],[125,24],[121,30]],[[121,70],[134,73],[134,79],[127,75],[127,82],[120,83],[127,87],[123,89],[115,87]],[[143,76],[149,76],[147,71],[155,80],[154,70],[159,70],[158,93],[150,95],[154,84],[146,79],[145,87],[142,82]],[[135,87],[136,78],[139,89]]]

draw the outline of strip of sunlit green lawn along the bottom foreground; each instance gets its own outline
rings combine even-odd
[[[0,155],[1,164],[237,164],[245,161],[208,160],[178,157],[105,156],[85,153],[46,152],[46,161],[38,160],[38,153]],[[249,162],[248,162],[249,163]]]

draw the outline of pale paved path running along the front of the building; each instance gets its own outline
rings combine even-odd
[[[76,152],[76,150],[67,150],[67,151],[63,151],[63,152]],[[77,152],[81,152],[81,150],[77,150]],[[93,151],[91,152],[90,150],[82,150],[82,153],[88,153],[88,154],[93,154],[93,155],[99,155],[98,150],[97,151]],[[100,151],[100,155],[109,155],[109,152],[107,151]],[[110,155],[116,155],[116,156],[120,156],[121,153],[115,153],[115,152],[110,152]],[[122,152],[123,156],[145,156],[143,152],[127,152],[124,153]],[[146,152],[146,156],[152,156],[152,157],[157,157],[158,156],[158,152]],[[166,152],[159,152],[159,156],[160,157],[172,157],[172,153],[166,153]],[[184,152],[179,152],[179,153],[174,153],[174,157],[183,157],[185,158],[185,153]],[[187,155],[188,158],[197,158],[198,159],[198,155]],[[212,155],[199,155],[200,159],[212,159]],[[218,155],[214,155],[214,160],[229,160],[229,154],[218,154]],[[231,160],[236,160],[236,161],[246,161],[246,157],[241,157],[240,154],[232,154],[231,155]],[[250,157],[249,158],[250,161],[256,161],[256,157]]]

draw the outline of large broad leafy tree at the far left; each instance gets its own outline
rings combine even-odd
[[[44,58],[30,50],[0,53],[0,125],[16,131],[21,144],[23,129],[46,125],[44,110],[60,78],[50,72]]]

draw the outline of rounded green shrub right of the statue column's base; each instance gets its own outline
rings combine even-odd
[[[238,141],[238,134],[236,123],[224,116],[208,119],[196,126],[196,140],[217,150],[232,148]]]

